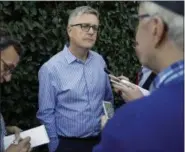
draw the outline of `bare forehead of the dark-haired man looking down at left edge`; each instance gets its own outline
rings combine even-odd
[[[1,51],[1,58],[13,63],[17,63],[20,59],[18,53],[16,52],[13,46],[9,46],[5,48],[3,51]]]

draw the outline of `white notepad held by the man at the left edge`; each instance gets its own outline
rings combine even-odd
[[[25,138],[27,136],[31,137],[32,148],[49,143],[49,137],[44,125],[23,131],[20,133],[20,136],[21,138]],[[14,139],[15,135],[9,135],[4,138],[5,149],[7,149],[10,146]]]

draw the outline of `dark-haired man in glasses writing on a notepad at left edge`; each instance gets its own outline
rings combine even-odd
[[[1,56],[1,71],[0,83],[11,80],[12,71],[17,66],[22,53],[21,46],[18,42],[12,40],[6,32],[0,30],[0,56]],[[1,112],[1,111],[0,111]],[[19,141],[19,132],[21,130],[16,126],[5,127],[3,116],[0,113],[0,152],[29,152],[30,138],[24,138]],[[14,141],[6,150],[4,149],[5,133],[15,133],[17,141]],[[18,142],[18,143],[16,143]]]

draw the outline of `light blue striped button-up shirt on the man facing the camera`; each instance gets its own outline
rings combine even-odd
[[[103,58],[89,51],[85,62],[65,46],[39,70],[37,117],[46,126],[49,149],[58,145],[58,135],[87,137],[100,133],[102,101],[113,101]]]

